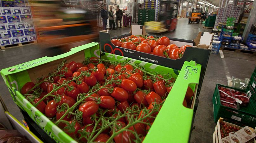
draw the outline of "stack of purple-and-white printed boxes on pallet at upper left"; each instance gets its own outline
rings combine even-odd
[[[24,1],[1,1],[0,16],[1,49],[7,45],[17,45],[35,41],[35,30],[30,8]]]

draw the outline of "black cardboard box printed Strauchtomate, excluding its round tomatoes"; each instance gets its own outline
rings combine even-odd
[[[143,52],[139,52],[136,50],[131,50],[131,49],[125,49],[122,47],[115,46],[111,43],[112,39],[120,39],[123,37],[127,37],[130,35],[147,35],[147,32],[145,31],[145,26],[140,26],[140,25],[133,25],[131,26],[131,31],[130,33],[124,34],[124,35],[119,35],[116,37],[110,37],[110,33],[105,31],[100,31],[99,32],[99,39],[100,39],[100,45],[101,45],[101,51],[106,52],[106,53],[112,53],[112,54],[117,54],[129,58],[133,58],[136,60],[142,60],[145,62],[150,62],[153,64],[161,65],[161,66],[166,66],[170,67],[173,69],[181,70],[182,65],[184,61],[190,61],[194,60],[196,63],[202,65],[202,71],[200,75],[200,81],[198,85],[198,91],[197,94],[199,95],[201,87],[202,87],[202,81],[204,78],[204,74],[207,68],[208,64],[208,59],[210,56],[211,52],[211,45],[198,45],[201,40],[201,36],[203,35],[202,32],[199,32],[197,38],[195,40],[184,40],[184,39],[177,39],[177,38],[171,38],[170,39],[170,44],[176,44],[178,47],[181,47],[183,45],[190,45],[191,47],[187,47],[186,51],[184,52],[183,56],[181,59],[173,60],[153,54],[147,54]],[[155,35],[153,35],[155,36]],[[155,37],[160,37],[160,36],[155,36]],[[212,36],[213,37],[213,36]],[[209,43],[212,42],[212,38],[208,41]],[[198,47],[196,47],[198,46]],[[192,48],[193,47],[193,48]],[[204,47],[204,48],[203,48]],[[206,48],[207,47],[207,48]],[[178,72],[178,71],[176,71]]]

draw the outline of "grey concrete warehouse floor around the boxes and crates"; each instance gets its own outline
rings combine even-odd
[[[187,18],[178,20],[176,31],[162,33],[163,36],[193,40],[198,31],[208,31],[203,29],[201,24],[188,24]],[[110,31],[111,37],[126,34],[130,27],[120,30]],[[38,44],[31,44],[22,47],[8,48],[0,51],[0,69],[15,66],[29,60],[34,60],[43,56],[54,56],[62,54],[59,48],[38,48]],[[202,89],[199,95],[199,106],[195,115],[195,129],[191,134],[191,143],[212,142],[212,134],[216,123],[213,119],[212,96],[216,83],[228,85],[232,76],[244,79],[250,78],[254,67],[256,66],[256,56],[253,54],[235,53],[233,51],[223,51],[220,54],[211,54],[207,71],[205,73]],[[9,112],[18,120],[22,120],[22,114],[19,108],[13,102],[7,86],[0,78],[0,94],[9,109]],[[171,115],[170,115],[171,116]],[[170,133],[172,134],[172,133]],[[182,133],[179,133],[182,134]]]

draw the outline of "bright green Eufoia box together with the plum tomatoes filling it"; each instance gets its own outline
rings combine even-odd
[[[107,53],[101,59],[92,55],[100,55],[99,44],[3,69],[1,74],[16,104],[60,142],[142,142],[147,132],[154,133],[150,127],[162,123],[161,116],[170,113],[168,102],[173,97],[169,92],[183,95],[173,98],[177,104],[171,108],[179,107],[179,113],[192,119],[196,86],[178,87],[198,83],[200,65],[186,62],[178,77],[173,69],[151,63]],[[13,84],[16,81],[19,83]],[[184,104],[185,95],[190,98],[186,99],[190,109]],[[184,120],[182,115],[172,119]],[[180,124],[191,125],[187,122]],[[188,140],[190,128],[182,128],[188,133],[184,140]],[[150,138],[147,135],[145,140]]]

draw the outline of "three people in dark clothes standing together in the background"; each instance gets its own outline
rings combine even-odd
[[[113,11],[112,11],[112,6],[109,7],[109,11],[107,12],[107,7],[103,6],[103,9],[100,11],[100,15],[102,17],[102,22],[103,22],[103,30],[107,29],[107,19],[109,20],[109,27],[110,30],[116,30],[115,28],[115,22],[114,22],[114,18],[116,18],[116,25],[118,27],[118,21],[120,21],[120,27],[122,26],[122,17],[123,17],[123,11],[121,9],[119,9],[119,6],[117,6],[117,11],[114,15]],[[116,16],[116,17],[115,17]],[[112,27],[113,26],[113,27]]]

